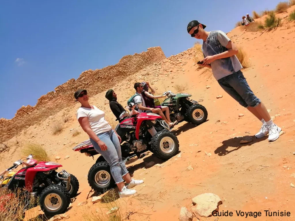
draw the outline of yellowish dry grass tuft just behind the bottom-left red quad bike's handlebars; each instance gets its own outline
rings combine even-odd
[[[25,144],[24,148],[22,149],[22,155],[27,157],[30,154],[32,154],[34,159],[38,161],[50,161],[50,157],[47,155],[46,150],[40,144]]]

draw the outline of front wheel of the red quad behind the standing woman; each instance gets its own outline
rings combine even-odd
[[[152,150],[158,158],[168,160],[178,153],[178,139],[170,131],[159,131],[153,136]]]

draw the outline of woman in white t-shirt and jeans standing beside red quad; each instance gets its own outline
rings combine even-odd
[[[119,188],[119,196],[128,197],[135,194],[136,190],[130,188],[142,184],[143,180],[131,179],[122,161],[120,136],[105,120],[104,112],[88,103],[89,97],[85,89],[77,90],[74,97],[81,103],[81,107],[77,110],[78,122],[89,135],[94,149],[109,163],[112,177]],[[122,177],[127,183],[127,188]]]

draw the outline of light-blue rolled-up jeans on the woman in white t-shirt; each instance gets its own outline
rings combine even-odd
[[[122,176],[126,175],[128,170],[125,163],[122,161],[121,145],[116,133],[113,130],[110,130],[105,133],[99,133],[97,136],[106,144],[107,149],[102,151],[92,138],[90,138],[91,144],[94,149],[109,163],[114,181],[116,183],[123,182]]]

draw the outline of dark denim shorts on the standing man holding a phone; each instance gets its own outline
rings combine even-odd
[[[256,107],[261,103],[261,100],[257,98],[251,90],[241,71],[222,77],[218,80],[218,83],[223,90],[225,90],[230,96],[232,96],[232,98],[245,108],[248,106]]]

